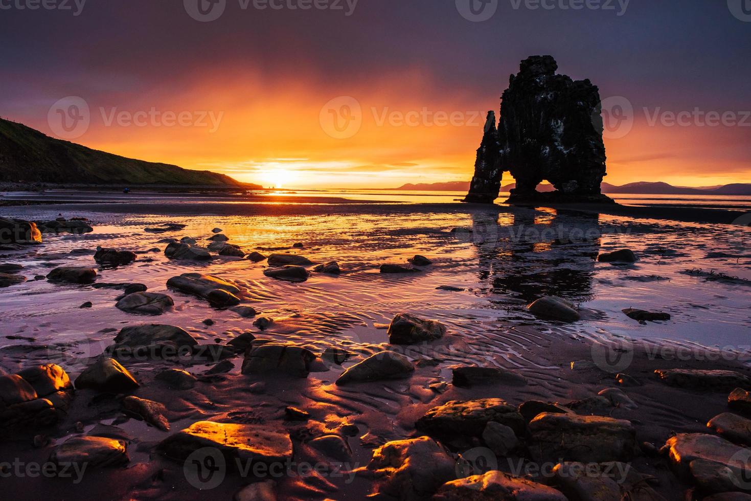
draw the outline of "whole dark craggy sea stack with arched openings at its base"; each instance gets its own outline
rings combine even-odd
[[[488,115],[493,123],[485,127],[465,201],[492,203],[502,173],[510,171],[517,180],[510,203],[612,202],[600,191],[606,173],[599,89],[557,69],[552,56],[532,56],[511,75],[495,134],[494,113]],[[556,191],[536,192],[543,180]]]

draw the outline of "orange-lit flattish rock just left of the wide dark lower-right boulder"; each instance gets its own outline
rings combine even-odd
[[[431,436],[449,437],[458,434],[479,437],[490,421],[508,426],[514,433],[522,433],[524,430],[524,419],[517,408],[500,398],[451,400],[427,411],[415,423],[415,428]]]

